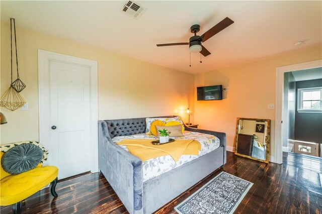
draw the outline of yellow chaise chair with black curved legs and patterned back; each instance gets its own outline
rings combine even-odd
[[[22,142],[19,142],[19,145]],[[29,142],[25,144],[32,144],[35,142]],[[24,144],[24,143],[22,143]],[[10,144],[13,145],[13,144]],[[15,144],[14,146],[18,146]],[[38,192],[49,183],[51,183],[51,194],[57,197],[55,187],[57,184],[58,168],[55,166],[42,166],[41,163],[36,165],[31,170],[11,174],[8,170],[4,169],[5,153],[3,152],[4,146],[1,146],[1,169],[0,169],[0,205],[7,206],[12,204],[13,212],[19,213],[22,208],[22,201],[27,197]],[[15,148],[15,147],[13,147]],[[12,148],[10,148],[12,149]],[[17,149],[16,149],[17,150]],[[44,150],[43,150],[44,151]],[[9,150],[7,151],[9,152]],[[44,151],[47,152],[47,151]],[[48,154],[48,152],[47,152]],[[9,154],[8,154],[9,155]],[[8,156],[7,155],[7,156]],[[23,156],[22,158],[26,158]],[[41,161],[42,162],[42,161]],[[15,162],[18,163],[18,162]],[[17,164],[16,164],[17,165]],[[6,168],[6,167],[5,167]]]

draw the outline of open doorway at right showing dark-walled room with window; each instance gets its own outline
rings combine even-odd
[[[283,152],[322,157],[322,67],[284,72]]]

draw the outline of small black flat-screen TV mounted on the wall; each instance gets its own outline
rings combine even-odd
[[[222,99],[222,85],[197,87],[197,100]]]

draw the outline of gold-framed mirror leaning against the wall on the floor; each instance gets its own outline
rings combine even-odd
[[[235,155],[269,162],[271,120],[237,118]]]

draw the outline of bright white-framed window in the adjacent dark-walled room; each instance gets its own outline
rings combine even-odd
[[[297,112],[322,113],[322,87],[297,89]]]

